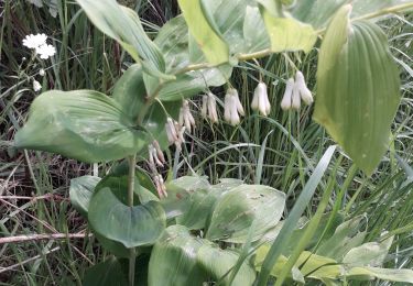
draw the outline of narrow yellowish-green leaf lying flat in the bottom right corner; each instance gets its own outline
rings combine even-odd
[[[413,284],[412,270],[388,270],[379,267],[354,267],[346,273],[348,279],[371,279],[379,278],[382,280],[392,280]]]

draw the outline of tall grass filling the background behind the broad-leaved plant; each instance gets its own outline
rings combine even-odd
[[[56,18],[46,8],[39,9],[26,1],[0,2],[0,233],[1,237],[85,233],[85,238],[0,245],[1,285],[80,285],[85,270],[107,256],[95,239],[87,237],[85,221],[67,200],[69,179],[91,174],[93,167],[57,155],[18,152],[11,146],[13,134],[25,121],[36,96],[32,91],[32,77],[42,79],[43,91],[87,88],[110,94],[130,61],[116,43],[94,29],[73,1],[57,2]],[[121,2],[139,11],[152,36],[178,13],[175,1]],[[350,182],[346,178],[351,162],[341,154],[337,170],[332,164],[325,176],[334,175],[333,183],[322,180],[304,215],[308,218],[315,215],[332,184],[326,211],[336,208],[346,218],[366,216],[367,241],[383,239],[383,231],[388,232],[384,235],[395,234],[385,266],[409,268],[413,267],[413,170],[409,167],[413,154],[413,14],[384,20],[381,25],[389,35],[403,79],[403,100],[392,128],[391,150],[371,178],[356,172]],[[21,41],[26,34],[37,32],[53,38],[57,48],[55,61],[31,62],[30,51]],[[213,183],[236,177],[270,185],[287,194],[285,216],[289,215],[316,163],[334,144],[324,129],[312,121],[311,107],[300,113],[280,109],[284,81],[292,76],[292,66],[303,70],[309,88],[316,89],[316,61],[317,53],[313,51],[308,55],[273,55],[259,63],[240,64],[231,84],[240,92],[247,116],[237,128],[222,121],[211,125],[197,116],[196,132],[188,138],[184,156],[177,162],[178,174],[205,174]],[[37,75],[41,67],[46,70],[43,78]],[[250,109],[259,73],[270,88],[272,110],[268,118]],[[224,89],[213,91],[224,97]],[[193,110],[197,114],[198,107],[195,99]],[[339,156],[336,155],[334,163]],[[101,164],[99,170],[104,174],[109,167]]]

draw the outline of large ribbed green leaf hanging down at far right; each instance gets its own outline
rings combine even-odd
[[[389,143],[400,103],[400,78],[384,33],[370,22],[348,23],[344,7],[319,53],[314,120],[370,175]]]

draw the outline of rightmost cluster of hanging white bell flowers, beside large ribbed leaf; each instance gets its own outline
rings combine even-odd
[[[306,105],[311,105],[314,101],[312,91],[305,84],[304,75],[298,70],[295,74],[295,80],[290,78],[286,81],[285,92],[281,100],[281,108],[283,110],[300,109],[301,100]]]

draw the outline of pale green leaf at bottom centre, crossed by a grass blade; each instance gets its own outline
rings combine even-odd
[[[225,285],[229,285],[230,271],[236,265],[239,253],[231,250],[221,250],[215,244],[203,244],[197,253],[197,261],[214,280],[224,278]],[[231,285],[251,286],[256,280],[256,271],[246,260],[238,271]]]

